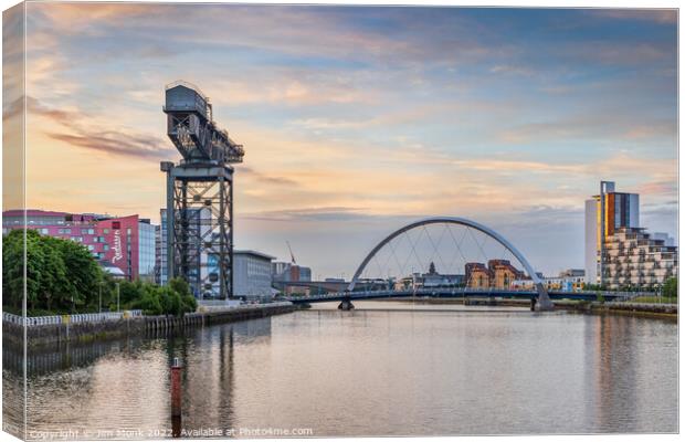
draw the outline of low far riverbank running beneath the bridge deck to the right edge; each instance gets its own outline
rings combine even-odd
[[[457,304],[457,305],[487,305],[487,306],[507,306],[507,307],[529,307],[530,302],[528,299],[504,299],[504,298],[382,298],[377,301],[393,301],[414,304]],[[600,302],[586,302],[586,301],[569,301],[557,299],[554,301],[555,309],[562,309],[570,313],[586,313],[594,315],[613,314],[613,315],[628,315],[636,317],[651,317],[661,319],[677,320],[678,306],[677,304],[654,304],[654,303],[600,303]]]

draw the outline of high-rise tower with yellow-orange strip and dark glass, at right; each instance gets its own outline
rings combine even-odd
[[[600,193],[586,201],[586,281],[602,284],[603,251],[621,228],[640,228],[640,196],[615,191],[612,181],[600,182]]]

